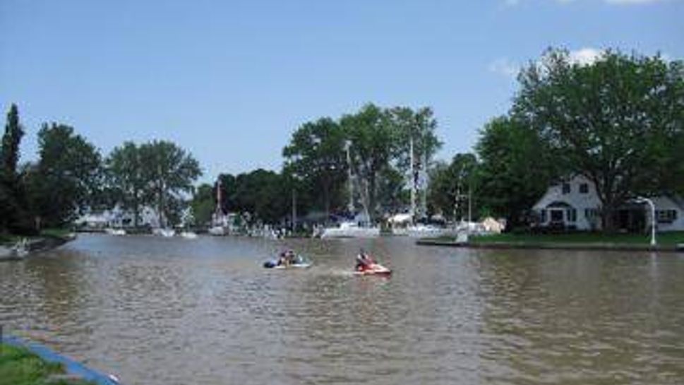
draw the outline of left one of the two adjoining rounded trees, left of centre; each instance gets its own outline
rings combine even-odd
[[[140,206],[148,203],[145,196],[148,180],[145,177],[141,150],[133,142],[124,142],[116,147],[106,160],[109,185],[119,192],[119,201],[124,208],[133,210],[133,226],[138,227]]]

